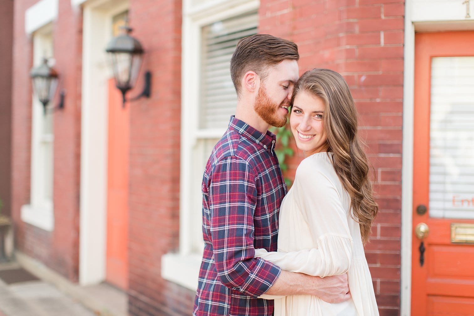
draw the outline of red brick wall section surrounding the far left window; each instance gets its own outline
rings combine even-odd
[[[79,161],[82,16],[70,0],[59,1],[53,22],[55,69],[59,88],[66,90],[65,108],[54,116],[53,232],[24,223],[20,208],[30,199],[32,41],[25,34],[25,10],[34,0],[15,1],[12,90],[12,213],[17,249],[40,260],[69,280],[78,280],[79,266]],[[53,101],[57,104],[57,99]],[[50,114],[51,115],[51,114]]]

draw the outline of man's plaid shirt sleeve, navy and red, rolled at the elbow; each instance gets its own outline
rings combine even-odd
[[[281,270],[254,258],[254,177],[251,166],[235,156],[216,165],[209,186],[209,223],[220,281],[258,297],[273,285]]]

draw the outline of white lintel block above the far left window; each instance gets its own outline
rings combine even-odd
[[[25,11],[25,32],[30,35],[58,16],[58,0],[40,0]]]

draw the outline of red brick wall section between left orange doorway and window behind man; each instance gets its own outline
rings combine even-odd
[[[161,256],[179,242],[181,1],[132,0],[129,12],[153,74],[151,98],[128,104],[129,313],[191,315],[194,292],[161,278]]]

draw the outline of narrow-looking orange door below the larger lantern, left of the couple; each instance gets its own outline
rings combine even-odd
[[[128,118],[110,79],[106,280],[121,289],[128,289]]]

